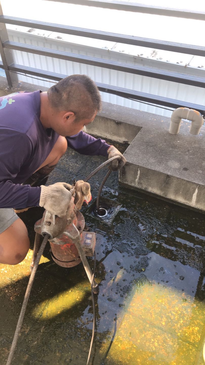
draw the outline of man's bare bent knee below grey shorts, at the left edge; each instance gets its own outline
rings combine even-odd
[[[0,263],[19,264],[26,257],[29,247],[27,228],[19,218],[0,234]]]

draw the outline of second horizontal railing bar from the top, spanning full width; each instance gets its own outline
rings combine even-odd
[[[59,32],[63,34],[78,35],[94,39],[104,39],[110,42],[125,43],[134,46],[156,48],[172,52],[180,52],[205,57],[205,47],[196,45],[187,45],[185,43],[176,43],[168,41],[160,41],[158,39],[134,37],[132,35],[124,35],[117,33],[103,32],[100,30],[92,30],[79,27],[71,27],[62,24],[40,22],[38,20],[16,18],[14,16],[0,16],[0,23],[15,24],[23,27],[31,27],[51,32]]]

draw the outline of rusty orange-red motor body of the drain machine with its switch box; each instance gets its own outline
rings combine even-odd
[[[35,231],[39,234],[41,234],[41,223],[42,219],[38,220],[35,223],[34,228]],[[71,268],[80,264],[81,262],[81,258],[78,254],[76,245],[68,237],[68,234],[72,236],[76,235],[76,230],[73,227],[73,224],[77,227],[80,233],[81,245],[86,256],[93,256],[96,243],[94,232],[83,232],[85,227],[85,219],[81,212],[77,211],[73,220],[65,227],[63,233],[53,239],[49,239],[51,247],[50,252],[53,260],[59,266],[63,266],[66,268]]]

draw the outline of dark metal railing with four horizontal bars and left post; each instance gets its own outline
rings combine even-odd
[[[58,1],[58,0],[51,0]],[[62,0],[61,0],[62,2]],[[184,18],[193,18],[194,16],[198,16],[197,19],[205,20],[205,13],[195,12],[187,14],[186,11],[178,11],[173,9],[163,9],[159,7],[152,7],[148,5],[135,4],[135,3],[125,3],[123,1],[101,1],[101,0],[79,0],[79,1],[69,1],[64,0],[66,3],[74,3],[80,5],[87,6],[98,6],[98,7],[107,7],[118,10],[127,10],[127,11],[138,11],[138,12],[147,12],[149,14],[158,14],[158,15],[169,15],[169,16],[179,16]],[[129,10],[128,10],[129,9]],[[162,12],[163,10],[163,12]],[[175,13],[173,13],[175,11]],[[183,13],[183,14],[182,14]],[[102,68],[119,70],[127,73],[138,74],[142,76],[148,76],[153,78],[158,78],[167,81],[178,82],[186,85],[193,85],[201,88],[205,88],[205,78],[198,76],[191,76],[189,74],[171,72],[167,70],[161,70],[156,68],[150,68],[146,66],[127,64],[119,61],[107,60],[99,57],[90,57],[81,54],[74,54],[66,51],[60,50],[50,50],[46,47],[39,47],[28,45],[25,43],[12,42],[8,39],[8,33],[5,27],[5,24],[15,24],[24,27],[33,27],[37,29],[49,30],[54,32],[60,32],[65,34],[78,35],[81,37],[89,37],[95,39],[104,39],[113,42],[125,43],[129,45],[143,46],[143,47],[151,47],[156,49],[162,49],[167,51],[174,51],[179,53],[186,53],[192,55],[200,55],[205,57],[205,47],[203,46],[194,46],[187,45],[175,42],[166,42],[166,41],[158,41],[156,39],[148,39],[148,38],[140,38],[140,37],[132,37],[129,35],[109,33],[103,31],[97,31],[92,29],[71,27],[62,24],[54,24],[47,22],[39,22],[37,20],[31,19],[23,19],[16,18],[12,16],[4,16],[2,10],[0,9],[0,23],[1,31],[0,31],[0,54],[2,61],[0,62],[0,68],[3,68],[6,73],[8,85],[12,88],[12,73],[24,73],[30,74],[33,76],[40,76],[50,80],[59,81],[67,75],[58,74],[55,72],[50,72],[46,70],[39,70],[32,67],[18,65],[15,64],[12,57],[11,50],[19,50],[27,53],[34,53],[39,55],[44,55],[47,57],[54,57],[59,59],[64,59],[67,61],[79,62],[81,64],[88,64],[93,66],[99,66]],[[175,14],[175,15],[173,15]],[[189,15],[189,16],[188,16]],[[131,89],[124,89],[121,87],[116,87],[113,85],[101,84],[96,82],[98,88],[102,92],[107,92],[111,94],[115,94],[117,96],[122,96],[128,99],[134,99],[136,101],[145,101],[148,103],[162,105],[165,107],[178,108],[178,107],[187,107],[191,109],[198,110],[202,115],[205,116],[205,106],[198,105],[194,103],[188,103],[185,101],[170,99],[167,97],[152,95],[149,93],[134,91]]]

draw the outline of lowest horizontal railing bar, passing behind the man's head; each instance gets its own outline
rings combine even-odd
[[[3,68],[2,64],[0,64],[0,68]],[[59,73],[55,73],[55,72],[51,72],[51,71],[39,70],[39,69],[35,69],[35,68],[29,67],[29,66],[23,66],[23,65],[18,65],[18,64],[9,65],[8,69],[10,71],[14,71],[14,72],[26,73],[26,74],[32,75],[32,76],[43,77],[43,78],[47,78],[49,80],[55,80],[57,82],[67,76],[67,75],[63,75],[63,74],[59,74]],[[96,82],[96,85],[101,92],[106,92],[106,93],[110,93],[113,95],[125,97],[127,99],[135,99],[136,101],[139,101],[139,102],[146,101],[148,103],[163,105],[165,107],[170,107],[173,109],[176,109],[179,107],[190,108],[190,109],[199,111],[203,116],[205,116],[205,106],[204,105],[188,103],[186,101],[170,99],[167,97],[144,93],[141,91],[124,89],[124,88],[121,88],[118,86],[102,84],[100,82]]]

